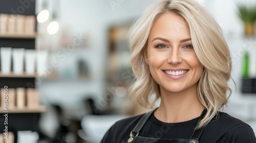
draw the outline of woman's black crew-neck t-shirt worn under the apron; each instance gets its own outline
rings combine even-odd
[[[130,133],[143,115],[116,122],[106,132],[101,143],[121,143],[130,137]],[[187,138],[189,139],[197,125],[199,117],[181,123],[164,123],[156,119],[154,114],[148,119],[139,136],[154,138]],[[147,143],[153,143],[150,139]],[[204,129],[199,142],[202,143],[256,143],[252,128],[243,121],[219,112],[219,117],[212,119]]]

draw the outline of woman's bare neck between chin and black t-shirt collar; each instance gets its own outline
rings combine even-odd
[[[199,100],[197,84],[179,93],[160,89],[161,103],[155,111],[158,120],[165,123],[185,122],[199,117],[204,109]]]

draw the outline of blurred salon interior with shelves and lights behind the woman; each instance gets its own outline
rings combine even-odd
[[[1,1],[0,129],[10,111],[13,142],[94,143],[117,120],[145,112],[127,94],[133,73],[126,34],[154,2]],[[221,25],[232,54],[236,85],[229,82],[224,111],[256,133],[256,2],[198,2]]]

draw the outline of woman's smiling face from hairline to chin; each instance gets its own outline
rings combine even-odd
[[[147,40],[144,59],[161,93],[197,92],[203,67],[182,16],[166,13],[157,18]]]

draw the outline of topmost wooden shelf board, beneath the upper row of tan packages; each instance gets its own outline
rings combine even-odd
[[[0,33],[0,38],[17,38],[17,39],[34,39],[38,36],[37,33],[33,33],[33,34],[9,34],[9,33],[6,33],[6,34],[3,34],[3,33]]]

